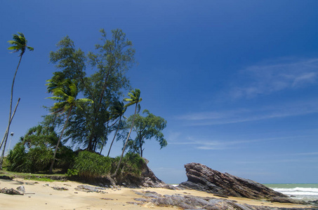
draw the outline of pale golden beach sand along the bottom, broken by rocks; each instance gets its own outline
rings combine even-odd
[[[107,188],[102,190],[105,193],[86,193],[75,190],[77,186],[86,185],[74,181],[30,181],[24,179],[3,180],[0,179],[0,188],[25,187],[25,195],[6,195],[0,193],[0,209],[176,209],[175,207],[154,207],[152,203],[129,204],[135,202],[134,198],[142,197],[135,194],[135,191],[150,190],[161,195],[194,195],[201,197],[215,197],[211,194],[196,190],[167,190],[163,188]],[[67,188],[68,190],[54,190],[53,187]],[[220,198],[220,197],[218,197]],[[251,204],[258,206],[304,208],[298,204],[279,204],[246,198],[230,197],[230,200],[237,200],[240,204]],[[308,207],[308,206],[307,206]]]

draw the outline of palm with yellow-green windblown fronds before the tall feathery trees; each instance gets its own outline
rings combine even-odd
[[[75,80],[65,79],[58,84],[54,82],[55,80],[51,79],[51,80],[48,80],[48,84],[46,84],[48,85],[48,92],[52,92],[53,94],[53,97],[48,97],[48,99],[53,99],[55,101],[58,101],[53,105],[53,107],[51,108],[51,111],[53,111],[53,114],[62,114],[67,111],[67,118],[65,120],[65,124],[60,134],[60,137],[58,138],[58,144],[56,144],[55,146],[53,160],[51,162],[51,167],[49,169],[50,174],[52,174],[53,172],[53,165],[55,162],[56,152],[58,151],[58,146],[60,144],[60,140],[62,139],[64,130],[66,128],[72,109],[76,106],[81,108],[80,104],[82,103],[86,103],[86,102],[93,103],[91,99],[76,99],[78,94],[78,89],[77,89],[77,83]],[[53,86],[55,87],[51,88]]]

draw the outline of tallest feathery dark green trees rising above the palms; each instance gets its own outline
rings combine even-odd
[[[110,38],[105,30],[100,32],[102,43],[95,45],[95,52],[88,52],[87,56],[75,48],[68,36],[58,43],[58,50],[50,53],[51,62],[60,69],[54,75],[55,80],[76,80],[79,92],[94,101],[89,106],[84,104],[82,109],[74,108],[65,131],[66,141],[71,139],[73,145],[86,146],[88,151],[104,146],[104,139],[110,133],[107,126],[110,106],[121,97],[121,91],[130,87],[125,73],[133,65],[135,54],[121,29],[112,30]],[[93,72],[86,76],[88,66]]]

